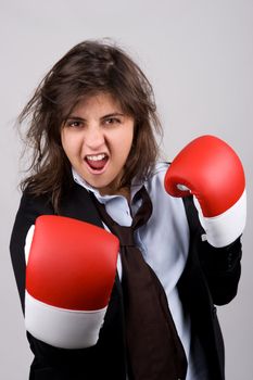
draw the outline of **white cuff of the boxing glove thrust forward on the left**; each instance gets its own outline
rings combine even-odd
[[[69,311],[51,306],[25,294],[25,326],[35,338],[60,349],[94,345],[107,307]]]

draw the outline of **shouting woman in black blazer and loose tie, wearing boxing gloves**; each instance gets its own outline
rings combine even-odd
[[[166,192],[173,180],[157,162],[161,126],[141,69],[118,47],[81,42],[41,81],[20,121],[29,117],[34,155],[11,256],[35,355],[30,379],[224,379],[214,304],[237,293],[242,227],[215,248],[192,198]],[[148,205],[134,233],[150,288],[132,282],[129,246],[114,228],[134,225]],[[157,303],[138,303],[139,288],[154,289]]]

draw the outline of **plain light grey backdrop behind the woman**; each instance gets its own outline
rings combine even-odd
[[[13,127],[51,65],[88,38],[111,37],[143,68],[156,94],[168,160],[214,134],[239,153],[249,217],[239,294],[219,307],[228,380],[252,379],[252,0],[51,0],[0,2],[0,379],[25,380],[31,354],[9,257],[18,206],[21,143]]]

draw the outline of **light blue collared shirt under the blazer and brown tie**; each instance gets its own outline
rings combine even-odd
[[[190,231],[181,199],[168,195],[164,189],[164,176],[167,167],[167,163],[156,164],[154,173],[143,183],[151,198],[153,212],[147,225],[136,231],[136,244],[165,290],[169,309],[188,359],[187,380],[206,380],[206,375],[200,375],[205,367],[203,359],[198,357],[198,366],[195,366],[190,355],[191,324],[189,316],[184,311],[177,289],[188,257]],[[132,200],[142,183],[132,183],[130,204],[128,204],[123,195],[101,195],[74,169],[73,176],[77,183],[94,193],[117,224],[121,226],[131,225],[132,216],[137,213],[141,202],[141,200],[135,202]],[[109,230],[106,226],[104,227]],[[121,255],[118,255],[117,271],[122,278]],[[201,353],[199,352],[199,354]]]

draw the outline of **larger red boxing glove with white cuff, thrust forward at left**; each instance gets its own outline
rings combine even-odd
[[[36,219],[26,268],[25,322],[62,349],[94,345],[113,288],[117,238],[68,217]]]

